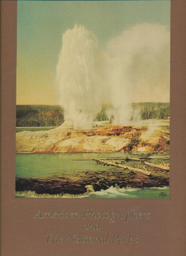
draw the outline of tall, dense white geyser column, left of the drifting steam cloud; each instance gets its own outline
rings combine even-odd
[[[89,129],[101,110],[100,59],[97,39],[84,27],[75,25],[63,34],[57,79],[65,120],[74,128]]]

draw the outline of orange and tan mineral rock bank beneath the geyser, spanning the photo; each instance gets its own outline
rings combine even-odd
[[[136,152],[140,147],[145,151],[169,151],[167,131],[156,130],[154,136],[158,140],[154,143],[150,142],[153,134],[149,140],[141,139],[145,132],[144,127],[132,127],[128,131],[126,126],[111,125],[97,130],[65,130],[59,126],[49,131],[25,131],[16,134],[16,153]]]

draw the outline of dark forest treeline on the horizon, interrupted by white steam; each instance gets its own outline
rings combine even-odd
[[[132,108],[137,110],[141,119],[167,119],[170,116],[169,103],[132,103]],[[17,105],[16,106],[16,126],[17,127],[42,127],[58,126],[64,122],[64,111],[59,105]],[[104,108],[95,117],[96,121],[112,122],[106,115]]]

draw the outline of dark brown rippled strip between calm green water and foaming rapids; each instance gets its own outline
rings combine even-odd
[[[154,172],[154,169],[153,169]],[[169,185],[169,173],[154,172],[146,175],[105,170],[105,172],[81,172],[78,175],[56,174],[42,178],[17,178],[16,191],[31,190],[37,194],[83,194],[87,191],[100,191],[111,186],[121,188],[164,187]]]

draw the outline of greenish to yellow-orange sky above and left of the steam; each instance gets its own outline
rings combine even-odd
[[[17,104],[59,104],[62,34],[76,23],[94,32],[104,49],[110,38],[135,24],[170,28],[170,1],[18,1]]]

